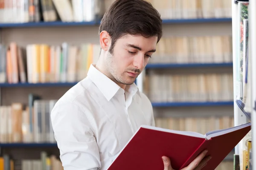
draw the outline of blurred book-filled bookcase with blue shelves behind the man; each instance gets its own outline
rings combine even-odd
[[[0,170],[61,170],[55,102],[99,57],[114,0],[0,0]],[[143,73],[157,127],[234,126],[231,0],[147,0],[163,38]],[[7,168],[7,169],[6,169]],[[217,170],[233,169],[233,151]]]

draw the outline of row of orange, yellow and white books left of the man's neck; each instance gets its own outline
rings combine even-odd
[[[0,83],[78,82],[99,58],[100,45],[0,45]]]

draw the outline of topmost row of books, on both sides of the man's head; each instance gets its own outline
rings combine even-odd
[[[231,17],[227,0],[147,0],[163,19]],[[0,23],[100,20],[114,0],[2,0]]]

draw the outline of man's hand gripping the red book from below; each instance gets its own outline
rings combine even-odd
[[[207,150],[204,150],[202,153],[200,153],[187,167],[184,167],[182,170],[201,170],[207,162],[211,159],[211,156],[207,156],[204,158],[206,155]],[[174,170],[172,169],[171,161],[167,156],[163,156],[163,165],[164,165],[164,170]]]

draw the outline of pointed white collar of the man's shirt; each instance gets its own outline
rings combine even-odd
[[[126,85],[124,91],[119,85],[100,72],[95,65],[96,64],[90,65],[87,76],[93,81],[97,88],[99,88],[108,101],[110,101],[115,94],[124,94],[125,91],[128,91],[132,96],[136,93],[140,96],[139,89],[135,83]]]

